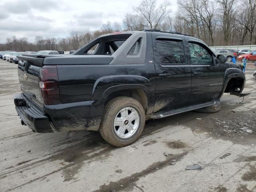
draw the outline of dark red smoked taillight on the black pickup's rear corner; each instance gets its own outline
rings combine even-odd
[[[40,68],[39,88],[44,104],[60,104],[60,87],[57,66],[43,66]]]

